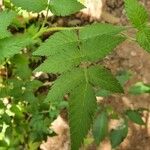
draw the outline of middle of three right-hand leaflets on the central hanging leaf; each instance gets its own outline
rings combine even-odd
[[[125,38],[121,36],[102,35],[96,38],[85,40],[81,43],[82,55],[88,61],[95,61],[105,58]]]

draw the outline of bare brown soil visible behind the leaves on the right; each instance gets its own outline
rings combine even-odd
[[[150,8],[150,0],[143,0],[143,4]],[[106,0],[106,10],[114,16],[121,18],[120,24],[128,24],[124,15],[122,0]],[[138,44],[125,41],[116,49],[106,61],[105,66],[110,68],[112,72],[119,70],[130,70],[134,74],[125,85],[125,94],[120,96],[111,96],[106,99],[106,102],[112,105],[115,110],[122,112],[127,108],[147,108],[150,109],[150,95],[142,94],[132,96],[128,94],[128,89],[136,82],[143,81],[150,83],[150,54],[145,52]],[[118,148],[119,150],[150,150],[150,113],[146,113],[143,119],[146,121],[146,126],[141,127],[130,123],[128,137]],[[106,145],[106,143],[105,143]],[[102,150],[105,149],[104,147]]]

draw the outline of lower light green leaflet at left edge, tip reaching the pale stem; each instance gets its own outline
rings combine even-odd
[[[24,35],[17,35],[0,40],[0,63],[4,58],[10,58],[21,52],[23,48],[31,43],[31,39]]]

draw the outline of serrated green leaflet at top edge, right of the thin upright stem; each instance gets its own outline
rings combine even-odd
[[[50,10],[56,16],[68,16],[83,9],[84,6],[77,0],[51,0]]]

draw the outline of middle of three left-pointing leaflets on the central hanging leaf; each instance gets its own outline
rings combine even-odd
[[[36,68],[35,72],[51,72],[51,73],[63,73],[73,69],[80,64],[81,56],[77,47],[71,49],[67,47],[61,53],[48,57],[46,61]]]

